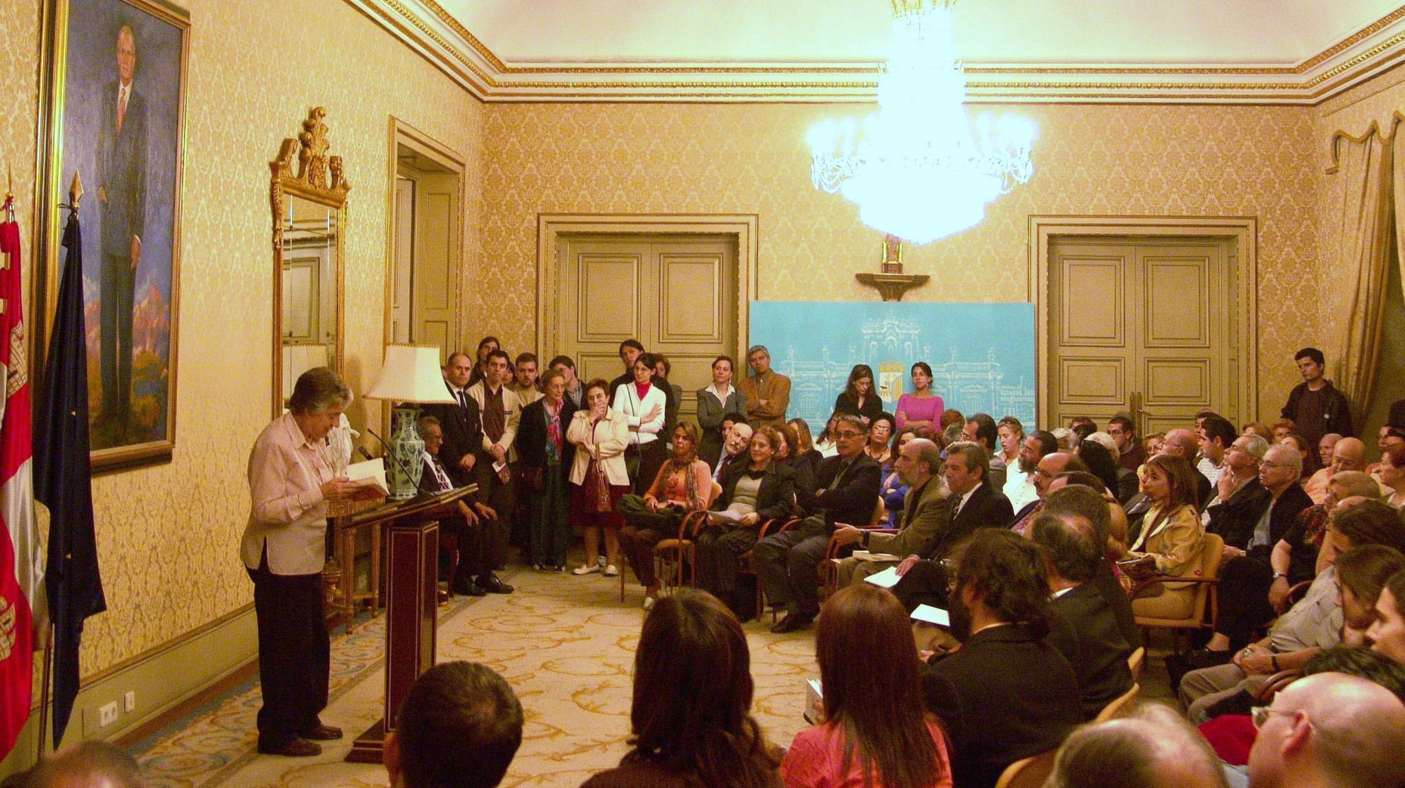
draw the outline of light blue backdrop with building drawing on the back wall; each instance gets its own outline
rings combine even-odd
[[[749,336],[791,379],[787,417],[816,435],[854,364],[873,367],[889,413],[926,361],[947,407],[1034,424],[1033,303],[754,301]]]

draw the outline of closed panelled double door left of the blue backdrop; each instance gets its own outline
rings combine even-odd
[[[667,355],[680,414],[694,416],[712,360],[738,351],[735,246],[726,236],[563,236],[554,353],[575,358],[582,379],[611,379],[620,343],[638,339]]]

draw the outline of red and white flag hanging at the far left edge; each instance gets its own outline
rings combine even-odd
[[[6,199],[8,212],[11,199]],[[0,757],[30,718],[35,625],[42,621],[44,551],[34,525],[30,369],[20,289],[20,225],[0,223]]]

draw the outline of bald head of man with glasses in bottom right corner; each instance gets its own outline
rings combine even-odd
[[[1405,785],[1405,705],[1380,684],[1316,673],[1280,690],[1256,722],[1253,788]]]

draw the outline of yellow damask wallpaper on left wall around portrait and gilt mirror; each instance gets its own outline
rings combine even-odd
[[[190,0],[188,8],[177,444],[169,465],[94,480],[108,612],[84,631],[84,674],[253,601],[237,545],[249,514],[249,448],[271,407],[268,160],[281,140],[296,135],[309,107],[326,107],[332,153],[353,184],[344,287],[354,392],[381,367],[389,117],[471,162],[481,155],[482,105],[347,3]],[[37,27],[37,0],[0,0],[3,58],[11,59],[0,77],[0,101],[8,103],[0,128],[6,155],[17,159],[25,233]],[[471,222],[476,190],[469,178]],[[476,236],[468,239],[475,261]],[[357,400],[350,416],[378,426],[379,413],[378,403]]]

